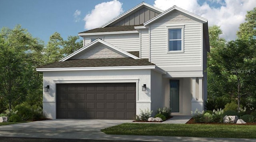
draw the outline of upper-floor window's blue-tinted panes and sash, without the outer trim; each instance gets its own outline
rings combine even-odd
[[[182,51],[182,29],[169,29],[169,51]]]

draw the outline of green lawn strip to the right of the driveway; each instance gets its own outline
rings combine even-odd
[[[256,138],[256,125],[124,123],[101,131],[120,135]]]

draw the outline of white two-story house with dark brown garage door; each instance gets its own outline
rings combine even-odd
[[[180,114],[204,109],[207,19],[142,2],[78,35],[84,47],[36,69],[43,72],[48,118],[133,119],[164,106]]]

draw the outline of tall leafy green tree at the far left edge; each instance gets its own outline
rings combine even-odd
[[[30,86],[32,53],[42,49],[38,39],[20,25],[14,29],[4,27],[0,32],[0,97],[8,109],[26,99]],[[37,87],[37,86],[33,86]]]

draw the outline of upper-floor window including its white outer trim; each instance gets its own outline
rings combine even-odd
[[[183,27],[168,27],[168,52],[183,52]]]

